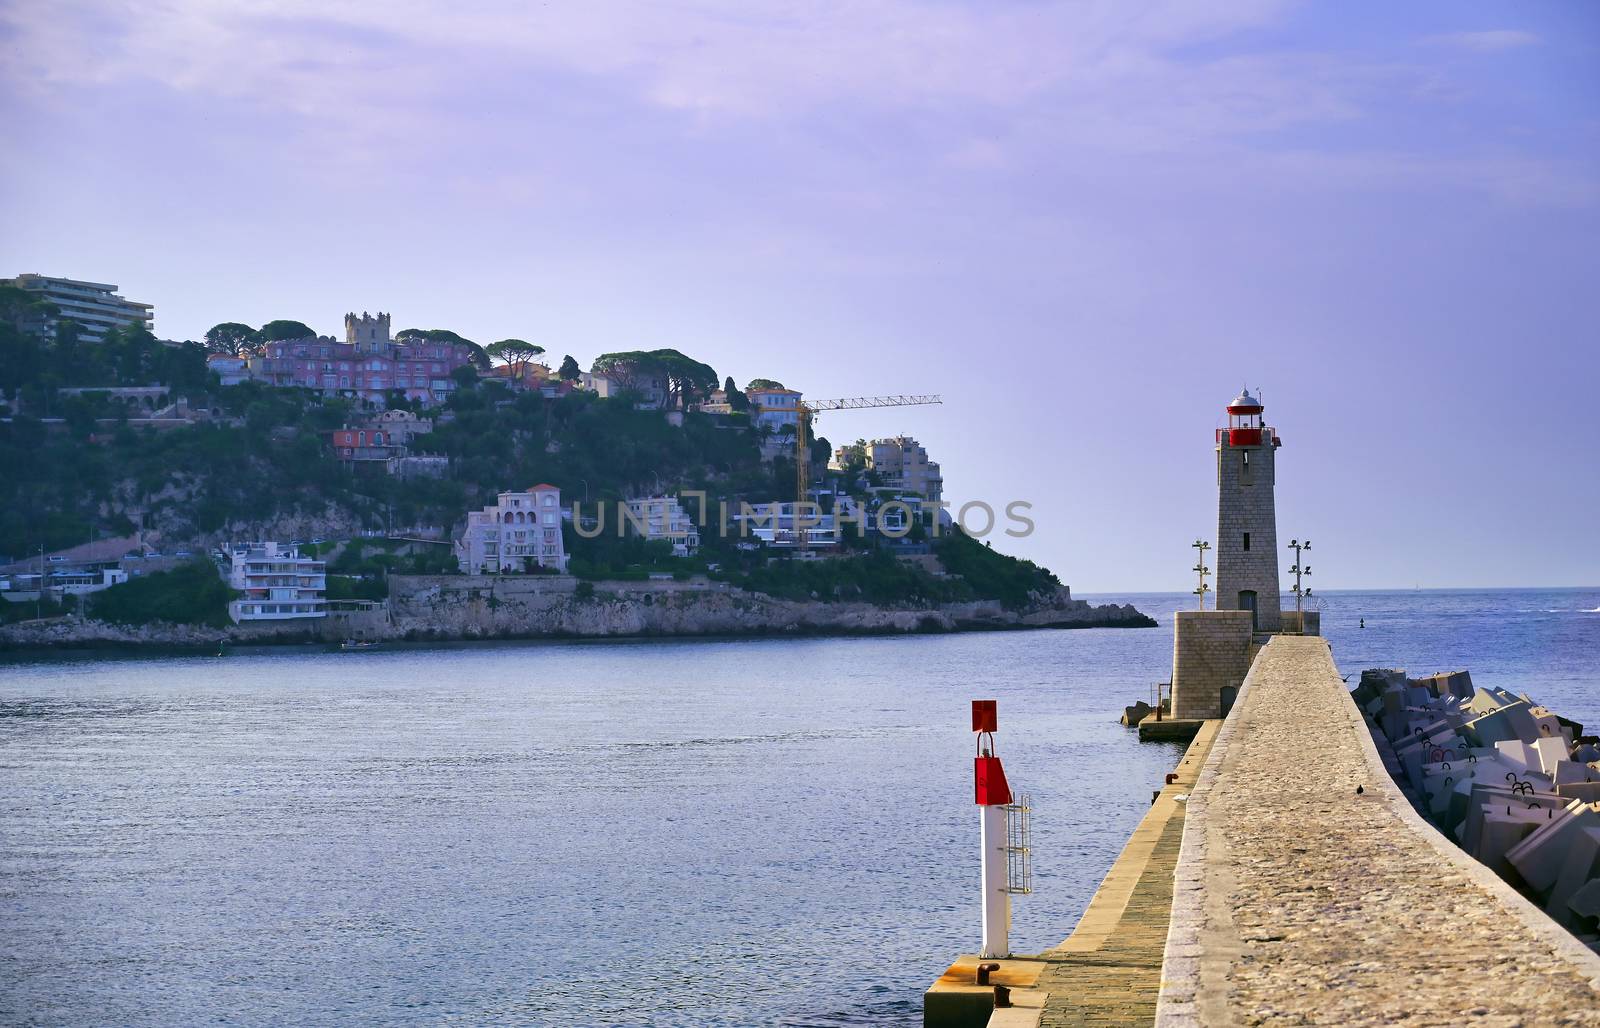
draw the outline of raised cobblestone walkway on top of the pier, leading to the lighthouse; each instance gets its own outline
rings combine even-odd
[[[1278,636],[1189,799],[1157,1023],[1600,1025],[1600,958],[1424,823],[1326,642]]]

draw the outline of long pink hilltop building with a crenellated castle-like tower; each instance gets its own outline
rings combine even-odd
[[[472,347],[459,343],[392,341],[387,314],[346,314],[344,338],[267,343],[262,355],[251,359],[251,373],[274,386],[320,389],[325,396],[352,394],[381,404],[398,391],[406,399],[438,404],[456,388],[450,373],[474,357]]]

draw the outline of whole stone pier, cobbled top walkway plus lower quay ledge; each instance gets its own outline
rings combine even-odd
[[[1600,1025],[1600,956],[1424,821],[1328,644],[1274,636],[1059,946],[928,1025]]]

